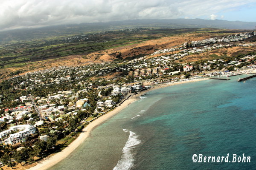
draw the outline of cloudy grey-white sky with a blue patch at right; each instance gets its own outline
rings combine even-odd
[[[256,0],[0,0],[0,30],[134,19],[256,22]]]

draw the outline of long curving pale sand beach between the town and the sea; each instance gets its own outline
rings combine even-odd
[[[129,99],[125,100],[121,105],[116,107],[114,110],[110,111],[109,113],[104,114],[103,116],[99,117],[98,119],[95,119],[93,122],[90,122],[89,125],[84,127],[82,132],[79,134],[76,140],[74,140],[71,144],[69,144],[64,150],[61,150],[58,153],[55,153],[52,156],[47,156],[46,158],[42,159],[41,161],[38,161],[35,163],[35,166],[30,167],[28,170],[47,170],[48,168],[54,166],[58,162],[62,161],[63,159],[67,158],[67,156],[70,155],[81,143],[84,142],[85,139],[87,139],[88,136],[90,136],[91,131],[96,128],[98,125],[102,124],[112,116],[116,115],[122,109],[126,108],[128,105],[130,105],[132,102],[136,101],[139,96],[142,94],[145,94],[148,91],[152,91],[159,88],[165,88],[172,85],[179,85],[184,84],[188,82],[198,82],[202,80],[207,80],[208,78],[203,79],[191,79],[181,82],[166,82],[162,84],[156,84],[154,87],[149,88],[148,90],[142,91],[138,94],[132,95]],[[31,166],[31,165],[30,165]]]

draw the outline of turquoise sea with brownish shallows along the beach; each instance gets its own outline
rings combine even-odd
[[[230,78],[148,92],[51,170],[255,169],[256,78]],[[244,153],[251,162],[194,163],[199,153],[231,161]]]

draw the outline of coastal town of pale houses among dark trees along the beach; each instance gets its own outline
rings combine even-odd
[[[3,80],[1,166],[31,164],[63,150],[90,122],[157,85],[254,70],[256,53],[195,62],[181,59],[220,48],[255,46],[255,42],[241,43],[255,36],[251,31],[184,42],[133,60],[59,66]]]

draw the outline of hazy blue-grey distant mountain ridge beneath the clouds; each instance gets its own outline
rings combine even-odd
[[[202,19],[172,19],[172,20],[125,20],[108,23],[81,23],[42,28],[25,28],[0,32],[0,44],[11,41],[20,42],[49,37],[67,37],[74,34],[96,33],[128,28],[227,28],[255,29],[256,22],[202,20]]]

